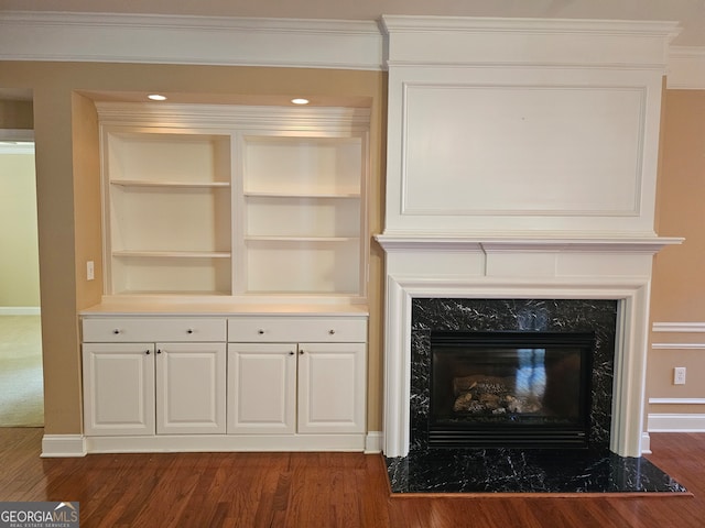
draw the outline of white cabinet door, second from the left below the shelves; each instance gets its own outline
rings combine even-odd
[[[225,343],[156,344],[156,432],[225,433]]]

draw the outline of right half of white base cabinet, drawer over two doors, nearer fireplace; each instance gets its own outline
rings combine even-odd
[[[366,334],[361,318],[230,319],[228,432],[364,433]]]

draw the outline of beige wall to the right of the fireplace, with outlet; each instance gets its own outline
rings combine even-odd
[[[654,258],[651,320],[699,323],[696,332],[652,332],[647,397],[705,398],[705,90],[666,90],[661,129],[657,232],[684,237]],[[679,344],[683,344],[679,348]],[[673,346],[671,346],[673,345]],[[685,385],[673,367],[685,366]],[[649,413],[702,414],[698,405],[649,405]]]

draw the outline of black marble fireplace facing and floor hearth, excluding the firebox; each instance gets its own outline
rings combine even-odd
[[[410,452],[386,459],[392,493],[685,492],[643,458],[609,451],[618,301],[412,300]],[[594,332],[588,449],[445,449],[429,446],[432,331]]]

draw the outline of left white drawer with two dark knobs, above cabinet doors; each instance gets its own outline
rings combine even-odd
[[[88,343],[137,341],[223,341],[226,321],[216,318],[121,317],[86,318],[83,340]]]

